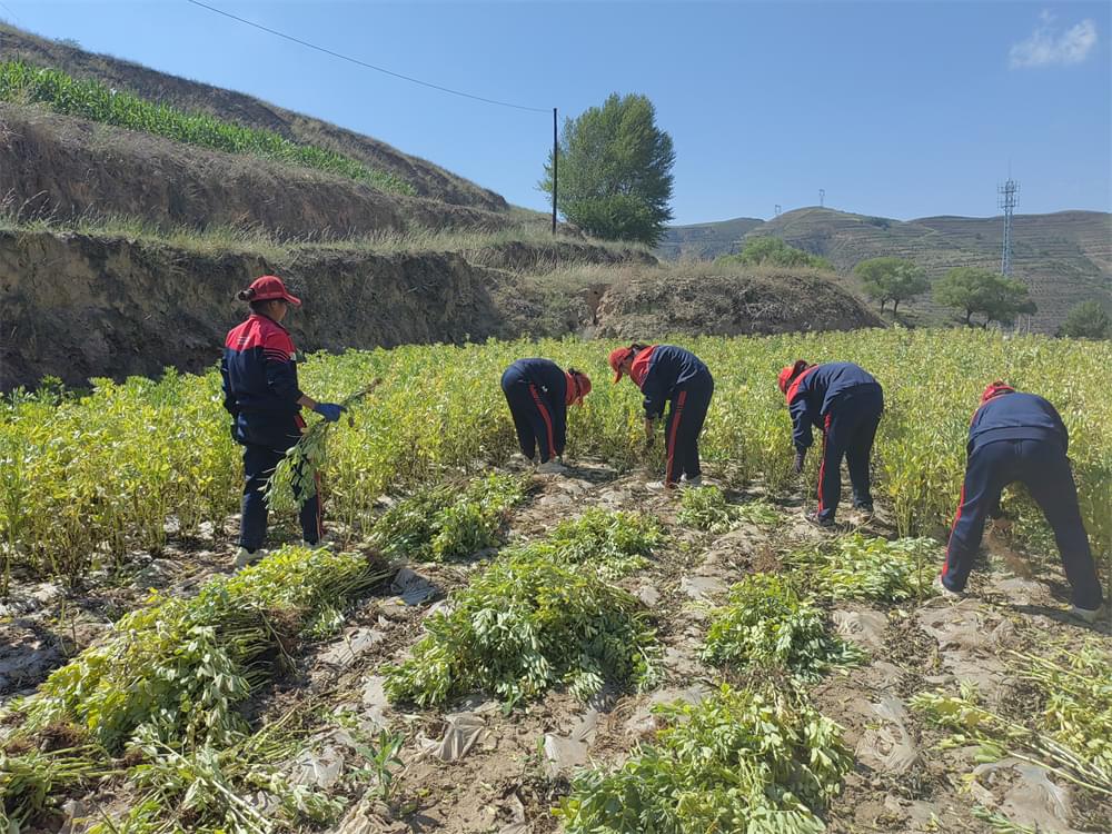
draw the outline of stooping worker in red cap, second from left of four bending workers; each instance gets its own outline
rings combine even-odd
[[[656,420],[671,403],[665,424],[667,466],[664,480],[651,488],[673,488],[681,476],[691,486],[703,484],[698,436],[714,395],[714,377],[695,354],[674,345],[638,345],[610,351],[614,381],[627,374],[645,395],[645,435],[649,443]]]

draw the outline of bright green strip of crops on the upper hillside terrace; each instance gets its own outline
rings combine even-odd
[[[390,193],[413,195],[408,182],[334,150],[298,145],[271,130],[247,128],[205,113],[185,112],[117,91],[105,83],[77,79],[56,69],[23,61],[0,62],[0,100],[46,105],[82,119],[162,136],[187,145],[335,173]]]

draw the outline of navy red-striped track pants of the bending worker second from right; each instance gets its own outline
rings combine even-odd
[[[823,460],[818,466],[818,517],[834,520],[842,500],[842,458],[850,469],[853,506],[873,506],[868,457],[876,427],[884,411],[884,395],[874,386],[854,394],[853,389],[831,405],[823,425]]]

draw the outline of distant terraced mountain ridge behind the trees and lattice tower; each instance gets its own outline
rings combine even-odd
[[[746,239],[777,237],[822,255],[843,276],[868,258],[894,256],[923,266],[932,279],[957,266],[1000,268],[1001,217],[924,217],[894,220],[827,208],[802,208],[767,220],[736,218],[668,229],[657,251],[667,258],[715,258],[738,251]],[[1039,305],[1035,330],[1053,331],[1075,304],[1098,300],[1112,309],[1112,214],[1059,211],[1016,215],[1012,272]],[[942,311],[929,301],[915,306]]]

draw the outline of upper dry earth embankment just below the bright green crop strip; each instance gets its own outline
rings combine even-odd
[[[22,218],[141,217],[322,239],[513,226],[507,212],[378,191],[345,177],[0,103],[0,201]]]

